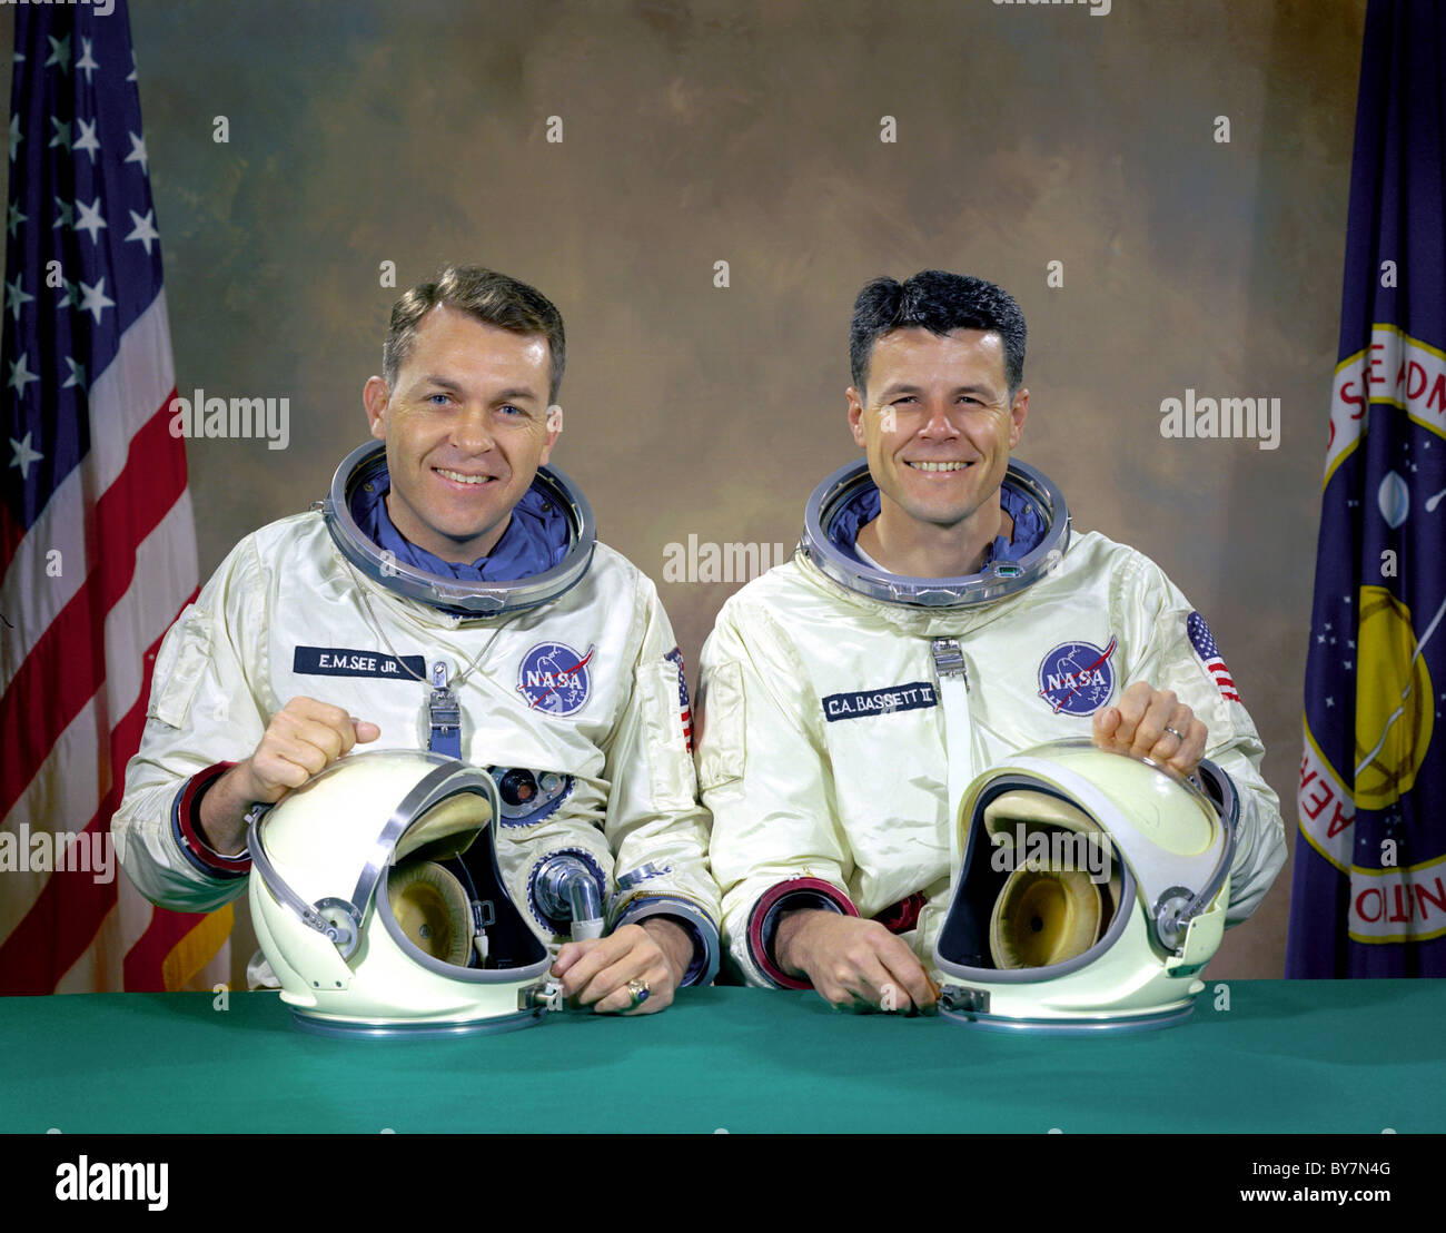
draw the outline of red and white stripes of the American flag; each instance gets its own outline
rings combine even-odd
[[[162,294],[94,379],[90,452],[30,533],[0,508],[0,612],[14,627],[0,653],[6,831],[100,832],[110,842],[156,651],[197,592],[174,397]],[[108,883],[82,871],[4,873],[0,993],[163,987],[165,957],[201,918],[153,909],[113,870]],[[226,949],[207,974],[226,978]]]

